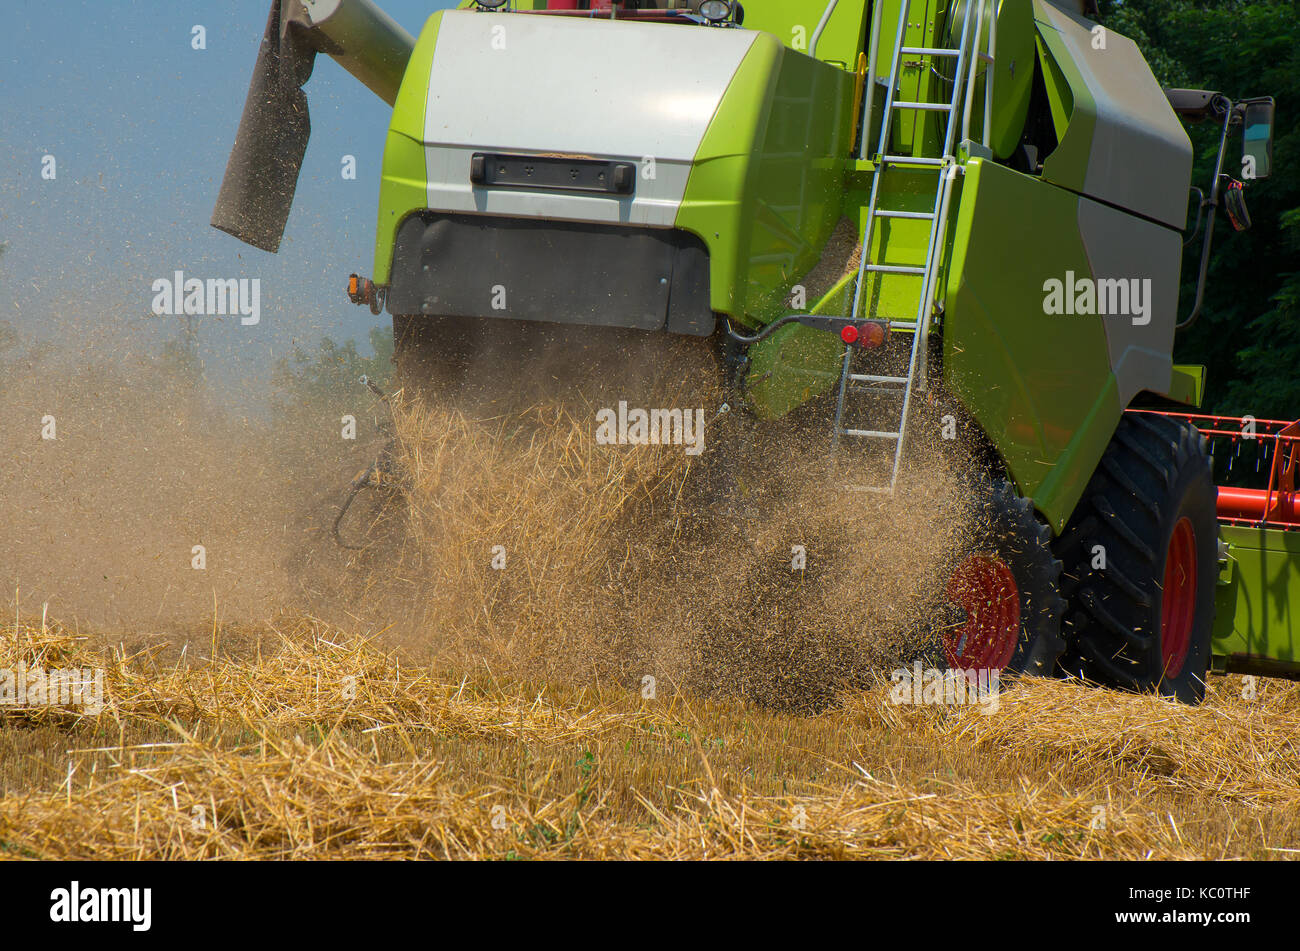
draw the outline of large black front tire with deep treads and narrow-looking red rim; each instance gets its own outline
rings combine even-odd
[[[1069,602],[1065,673],[1184,703],[1204,699],[1217,494],[1205,439],[1193,426],[1149,413],[1121,420],[1056,544]]]

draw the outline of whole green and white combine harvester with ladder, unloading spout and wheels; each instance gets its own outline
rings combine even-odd
[[[412,39],[370,0],[276,0],[212,223],[278,248],[328,53],[393,107],[348,292],[393,314],[399,373],[556,325],[696,338],[759,421],[832,404],[884,494],[945,408],[989,477],[949,663],[1195,703],[1209,669],[1300,674],[1300,427],[1197,414],[1204,368],[1171,359],[1218,209],[1249,226],[1228,143],[1268,175],[1273,100],[1161,90],[1088,12],[478,0]],[[1208,195],[1180,120],[1222,127]]]

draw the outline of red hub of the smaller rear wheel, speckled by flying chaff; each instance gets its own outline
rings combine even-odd
[[[996,555],[971,555],[953,572],[948,600],[966,611],[966,624],[944,634],[950,666],[1002,670],[1020,638],[1020,589]]]

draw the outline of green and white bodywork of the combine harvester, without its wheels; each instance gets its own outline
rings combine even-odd
[[[888,321],[1057,533],[1126,412],[1200,405],[1202,368],[1171,359],[1192,146],[1082,0],[746,0],[724,26],[571,5],[464,3],[403,51],[364,17],[330,35],[365,0],[306,4],[393,105],[372,281],[394,314],[759,336],[738,385],[766,420],[848,366],[784,317]],[[963,42],[961,71],[933,52]],[[656,281],[634,299],[627,262]],[[1222,527],[1214,665],[1295,674],[1300,531],[1264,522]]]

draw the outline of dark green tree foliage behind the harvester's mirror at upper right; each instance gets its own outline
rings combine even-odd
[[[1206,407],[1300,417],[1300,13],[1294,0],[1102,0],[1101,22],[1143,49],[1164,86],[1277,100],[1273,177],[1247,184],[1254,227],[1219,214],[1205,305],[1175,357],[1209,368]],[[1219,130],[1190,129],[1192,183],[1209,190]],[[1240,134],[1225,171],[1242,177]],[[1200,239],[1183,259],[1182,316],[1196,296]]]

